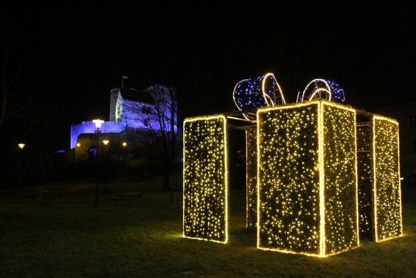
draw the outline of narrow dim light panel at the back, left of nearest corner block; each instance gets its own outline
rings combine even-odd
[[[246,130],[246,204],[247,228],[257,224],[257,131]]]

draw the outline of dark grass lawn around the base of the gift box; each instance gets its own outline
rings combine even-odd
[[[403,195],[404,236],[319,258],[255,248],[245,228],[245,191],[230,189],[230,242],[182,237],[182,193],[168,206],[162,178],[47,184],[0,192],[0,277],[416,277],[416,188]],[[181,173],[172,187],[182,189]],[[139,208],[117,191],[142,191]]]

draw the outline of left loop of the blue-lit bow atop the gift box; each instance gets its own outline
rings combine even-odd
[[[240,111],[285,104],[282,89],[272,73],[238,82],[233,91],[235,105]],[[255,117],[244,114],[246,119]]]

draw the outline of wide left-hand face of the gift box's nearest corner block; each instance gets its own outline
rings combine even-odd
[[[259,248],[318,252],[317,124],[317,105],[258,112]]]

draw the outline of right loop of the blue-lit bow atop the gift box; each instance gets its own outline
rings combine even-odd
[[[313,100],[315,98],[322,98],[339,104],[345,103],[344,90],[341,86],[326,79],[312,80],[302,92],[299,92],[297,102]]]

